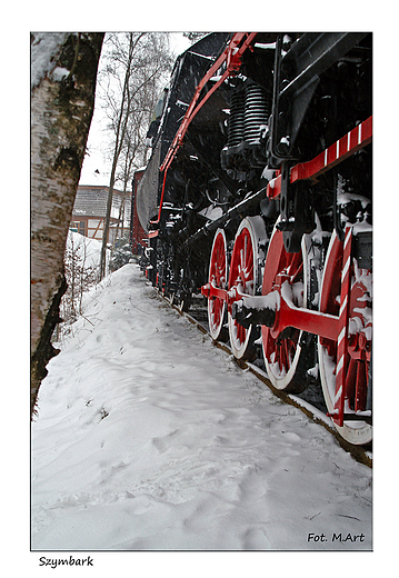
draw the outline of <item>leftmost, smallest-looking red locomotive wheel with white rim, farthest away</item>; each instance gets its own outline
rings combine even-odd
[[[222,229],[218,229],[212,243],[209,261],[209,282],[218,289],[225,289],[227,285],[227,242]],[[220,337],[223,328],[226,302],[218,297],[208,299],[209,332],[213,339]]]

